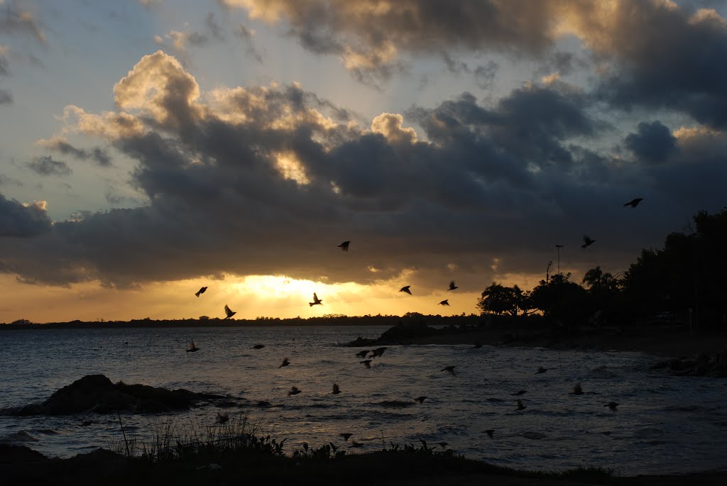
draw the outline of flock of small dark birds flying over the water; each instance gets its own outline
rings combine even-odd
[[[638,204],[641,201],[643,201],[643,198],[634,198],[631,201],[624,203],[624,207],[635,208],[636,206],[638,206]],[[342,242],[340,245],[338,245],[338,248],[341,248],[342,251],[348,251],[350,243],[351,243],[350,240],[346,240],[346,241]],[[581,245],[581,248],[584,248],[584,249],[588,248],[589,246],[593,245],[593,243],[595,243],[595,240],[593,240],[593,238],[590,238],[588,235],[583,235],[583,244]],[[556,245],[556,246],[558,248],[563,248],[563,245]],[[457,285],[454,283],[454,280],[451,280],[447,291],[454,291],[454,290],[457,290],[457,288],[459,288],[459,287],[457,287]],[[207,290],[207,287],[203,286],[198,291],[196,291],[195,295],[197,297],[199,297],[199,296],[201,296],[201,294],[205,293],[206,290]],[[404,285],[402,288],[399,289],[399,292],[408,293],[409,295],[412,295],[411,285]],[[323,300],[318,298],[318,294],[316,292],[313,292],[313,302],[308,302],[308,304],[310,305],[310,307],[313,307],[314,305],[323,305]],[[440,301],[439,305],[449,306],[449,299],[444,299],[443,301]],[[233,311],[232,309],[230,309],[230,307],[228,307],[227,304],[225,304],[225,319],[229,319],[230,317],[233,317],[233,315],[236,315],[236,313],[237,312]],[[252,349],[262,349],[263,347],[265,347],[265,344],[256,344],[252,347]],[[482,344],[479,342],[475,342],[474,347],[480,348],[480,347],[482,347]],[[364,365],[364,368],[366,368],[366,369],[371,369],[371,363],[373,362],[373,360],[377,357],[381,357],[387,349],[388,349],[387,347],[378,347],[376,349],[364,349],[360,352],[357,352],[356,357],[361,358],[361,361],[359,361],[358,363],[360,363],[361,365]],[[190,340],[189,344],[188,344],[187,352],[197,352],[198,350],[199,350],[199,348],[196,347],[196,345],[194,344],[194,341]],[[291,362],[290,362],[289,358],[284,357],[283,361],[278,366],[278,368],[284,368],[286,366],[289,366],[290,364],[291,364]],[[457,368],[457,366],[455,366],[455,365],[445,366],[444,368],[441,368],[440,371],[449,373],[451,376],[455,376],[454,368]],[[543,368],[542,366],[540,366],[537,369],[537,371],[535,372],[535,374],[545,373],[547,370],[548,370],[548,368]],[[512,395],[516,396],[516,397],[521,397],[523,394],[526,394],[526,392],[527,392],[526,390],[519,390],[518,392],[515,392]],[[301,390],[297,386],[292,386],[288,392],[288,396],[292,397],[292,396],[300,394],[300,393],[301,393]],[[340,386],[338,384],[334,383],[332,386],[331,393],[335,394],[335,395],[340,394],[341,393]],[[581,384],[576,384],[573,388],[573,391],[570,392],[569,394],[582,395],[584,393],[585,392],[583,392]],[[421,396],[421,397],[414,398],[414,402],[422,404],[426,399],[427,399],[427,397]],[[525,410],[527,408],[527,405],[523,404],[523,400],[521,398],[517,398],[517,399],[515,399],[515,401],[517,402],[517,407],[514,409],[515,411],[521,411],[521,410]],[[615,411],[617,409],[617,407],[619,406],[619,404],[616,402],[608,402],[603,406],[608,407],[609,409]],[[217,423],[223,424],[226,421],[228,421],[228,419],[229,419],[229,417],[228,417],[227,413],[217,413]],[[494,429],[488,429],[485,432],[490,439],[494,438]],[[345,441],[348,442],[348,440],[350,439],[350,437],[352,437],[353,434],[345,432],[345,433],[342,433],[339,435]],[[439,445],[441,445],[441,447],[446,447],[447,443],[440,442]],[[352,441],[352,447],[359,447],[359,446],[360,445],[357,444],[355,441]]]

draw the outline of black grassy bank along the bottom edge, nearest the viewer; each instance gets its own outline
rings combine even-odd
[[[408,450],[335,456],[309,449],[292,457],[265,450],[203,451],[188,458],[148,461],[96,450],[55,459],[15,445],[0,445],[2,484],[31,485],[724,485],[727,474],[614,477],[579,468],[550,473],[516,471],[422,445]]]

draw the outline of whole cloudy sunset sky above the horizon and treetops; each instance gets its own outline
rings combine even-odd
[[[627,270],[726,204],[726,17],[0,0],[0,322],[459,315]]]

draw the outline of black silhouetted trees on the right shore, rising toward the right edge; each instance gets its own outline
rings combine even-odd
[[[492,283],[477,307],[483,315],[542,314],[566,326],[644,320],[727,325],[727,207],[699,211],[687,231],[667,235],[661,249],[642,249],[624,272],[595,267],[580,283],[571,277],[549,275],[531,291]]]

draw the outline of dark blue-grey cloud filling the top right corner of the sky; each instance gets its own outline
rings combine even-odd
[[[623,2],[595,52],[615,65],[598,95],[619,108],[668,108],[727,126],[727,23],[713,11],[689,12]],[[598,26],[594,28],[601,30]]]

